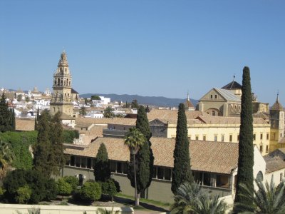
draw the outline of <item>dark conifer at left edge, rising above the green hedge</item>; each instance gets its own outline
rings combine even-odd
[[[0,132],[12,131],[12,129],[11,112],[8,109],[5,94],[2,93],[0,100]]]

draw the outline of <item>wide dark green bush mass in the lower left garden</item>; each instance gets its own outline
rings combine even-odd
[[[28,185],[31,189],[31,198],[29,198],[28,203],[38,203],[41,200],[56,198],[55,181],[36,170],[14,170],[9,172],[3,181],[3,186],[6,189],[5,198],[10,203],[15,203],[19,195],[17,191],[25,185]]]

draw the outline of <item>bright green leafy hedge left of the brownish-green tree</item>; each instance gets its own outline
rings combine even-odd
[[[0,139],[8,142],[13,156],[12,167],[18,169],[31,169],[33,158],[28,151],[28,147],[36,143],[36,131],[0,133]]]

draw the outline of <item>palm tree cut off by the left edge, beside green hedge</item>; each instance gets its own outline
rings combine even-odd
[[[13,153],[9,148],[9,143],[0,140],[0,180],[2,180],[13,160]]]

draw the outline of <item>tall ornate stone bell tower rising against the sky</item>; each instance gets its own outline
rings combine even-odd
[[[66,116],[73,116],[72,76],[69,71],[66,52],[63,51],[58,68],[53,74],[53,96],[50,103],[51,115],[58,111]]]

